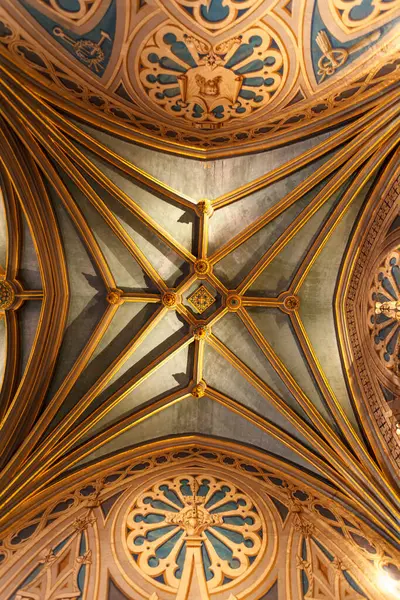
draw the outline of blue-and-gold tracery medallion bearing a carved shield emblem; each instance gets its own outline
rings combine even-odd
[[[150,100],[171,117],[204,129],[253,114],[287,77],[282,44],[265,26],[213,46],[165,25],[151,36],[139,61]]]

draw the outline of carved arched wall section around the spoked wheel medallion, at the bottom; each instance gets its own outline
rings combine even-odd
[[[3,597],[49,600],[64,590],[114,600],[119,590],[128,600],[176,600],[200,589],[201,600],[375,600],[376,575],[398,577],[390,544],[316,490],[317,479],[300,481],[249,448],[239,454],[231,443],[233,455],[196,442],[132,451],[89,467],[68,490],[57,484],[13,548],[7,540]]]

